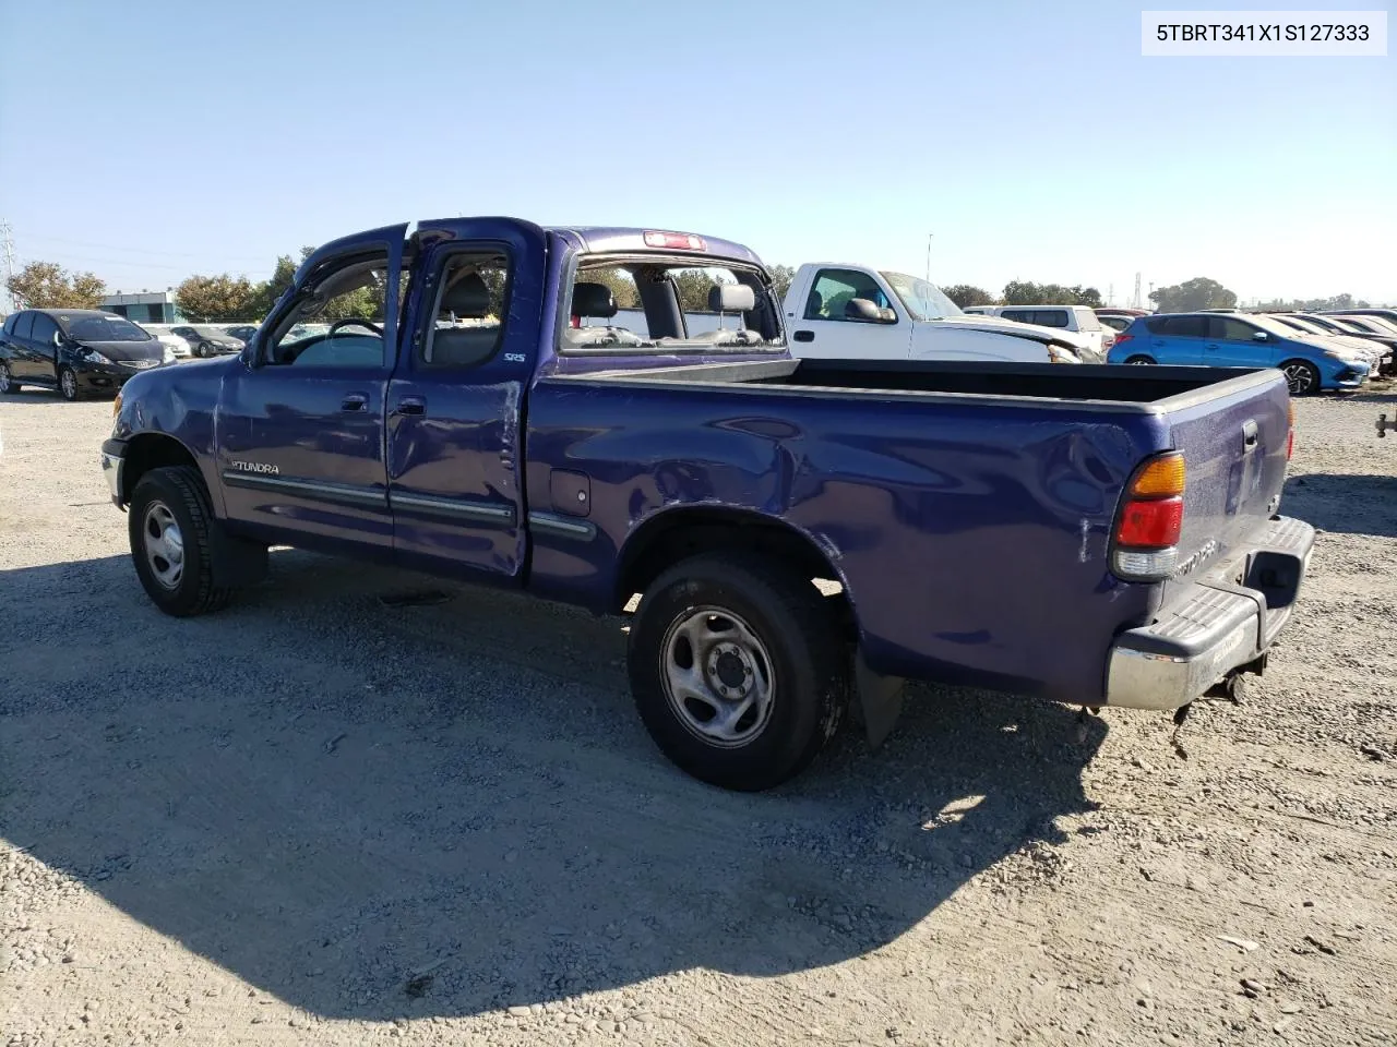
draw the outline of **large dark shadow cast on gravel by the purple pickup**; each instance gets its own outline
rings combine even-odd
[[[638,726],[623,621],[380,600],[440,585],[286,551],[172,620],[124,557],[4,572],[0,833],[258,990],[390,1019],[847,960],[1052,875],[1094,807],[1099,719],[929,687],[876,754],[710,789]]]

